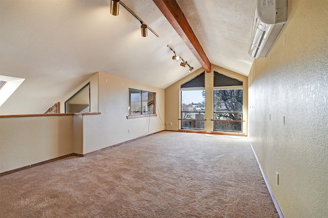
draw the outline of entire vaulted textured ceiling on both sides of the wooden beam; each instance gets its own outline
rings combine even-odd
[[[43,113],[93,73],[166,88],[189,74],[172,60],[170,45],[194,67],[201,64],[152,0],[122,1],[151,27],[109,0],[0,1],[0,75],[25,78],[0,114]],[[177,0],[211,63],[248,75],[255,0]]]

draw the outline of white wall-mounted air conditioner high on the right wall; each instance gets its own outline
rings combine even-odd
[[[257,0],[249,54],[267,56],[287,20],[287,0]]]

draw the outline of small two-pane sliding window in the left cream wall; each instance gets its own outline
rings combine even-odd
[[[155,114],[155,93],[129,89],[129,115]]]

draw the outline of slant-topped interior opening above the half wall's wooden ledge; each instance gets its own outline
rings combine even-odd
[[[90,83],[65,101],[65,113],[90,112]]]

